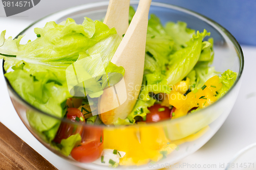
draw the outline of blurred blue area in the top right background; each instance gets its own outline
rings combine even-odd
[[[240,44],[256,45],[255,0],[153,0],[187,8],[218,22]]]

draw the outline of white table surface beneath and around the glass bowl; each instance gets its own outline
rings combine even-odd
[[[0,17],[0,31],[7,30],[6,37],[15,37],[30,23],[32,21]],[[217,168],[203,169],[224,169],[220,167],[220,164],[225,163],[226,166],[238,151],[256,142],[256,109],[254,108],[256,105],[256,46],[242,45],[242,48],[245,57],[245,66],[242,76],[242,86],[236,104],[220,130],[201,149],[181,160],[179,162],[180,164],[200,164],[201,166],[204,164],[216,164]],[[2,65],[2,61],[0,61],[0,65]],[[7,92],[4,76],[1,72],[2,66],[0,68],[0,122],[58,169],[81,169],[46,149],[27,130],[14,110]],[[181,169],[181,167],[173,169]],[[182,169],[190,168],[183,167]]]

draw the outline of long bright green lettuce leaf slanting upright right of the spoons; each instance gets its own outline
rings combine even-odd
[[[166,72],[168,85],[174,85],[181,81],[194,68],[201,54],[203,38],[209,35],[210,33],[207,33],[206,30],[203,33],[198,31],[185,48],[170,55]]]

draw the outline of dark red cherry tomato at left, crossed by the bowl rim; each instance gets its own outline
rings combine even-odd
[[[82,120],[80,119],[80,117],[82,117],[81,118]],[[82,112],[76,108],[68,108],[67,118],[70,119],[72,122],[79,121],[79,122],[85,123]],[[59,129],[53,141],[60,143],[62,139],[67,139],[71,135],[75,135],[77,133],[81,135],[82,131],[83,131],[82,126],[73,125],[67,122],[62,122],[59,126]]]

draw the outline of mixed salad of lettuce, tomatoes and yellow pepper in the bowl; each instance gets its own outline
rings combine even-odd
[[[130,8],[130,22],[135,11]],[[66,118],[80,125],[60,122],[27,111],[30,126],[45,141],[65,156],[79,162],[94,162],[117,167],[142,165],[159,161],[177,145],[200,137],[207,129],[184,139],[170,141],[163,129],[151,127],[150,132],[139,129],[103,130],[82,125],[103,125],[97,102],[108,82],[117,83],[115,76],[125,75],[122,66],[111,62],[121,41],[115,28],[101,21],[84,17],[81,25],[73,19],[47,22],[44,28],[34,29],[36,39],[20,44],[24,36],[5,39],[0,35],[0,58],[4,58],[5,77],[14,90],[29,104],[48,114]],[[214,39],[210,33],[187,28],[185,22],[169,21],[162,25],[152,14],[148,20],[145,63],[142,87],[132,112],[118,118],[115,126],[147,124],[193,114],[220,99],[236,81],[237,74],[226,70],[221,75],[210,66],[214,60]],[[207,38],[205,38],[207,37]],[[83,73],[90,82],[83,88],[88,92],[79,98],[71,95],[67,84],[67,68],[82,63]],[[102,61],[103,67],[98,66]],[[114,83],[114,84],[115,84]],[[89,104],[89,99],[93,104]],[[172,121],[172,120],[170,120]],[[146,141],[152,141],[148,143]],[[122,144],[120,144],[122,143]]]

